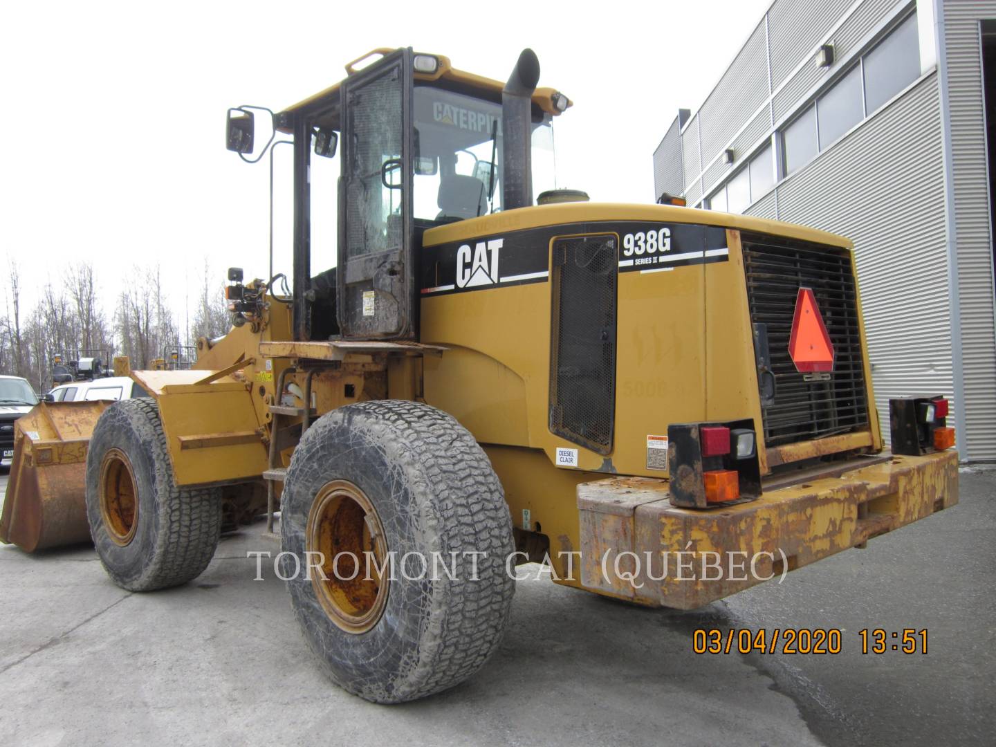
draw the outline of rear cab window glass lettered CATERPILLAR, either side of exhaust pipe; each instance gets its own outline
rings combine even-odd
[[[450,91],[414,90],[414,217],[449,222],[499,212],[501,105]],[[550,117],[533,124],[533,194],[556,187]]]

